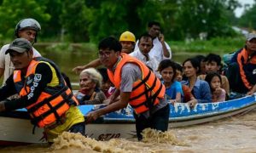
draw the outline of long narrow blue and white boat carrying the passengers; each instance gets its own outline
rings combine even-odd
[[[80,105],[84,116],[90,111],[104,107],[104,105]],[[253,96],[233,99],[218,103],[197,104],[191,109],[188,104],[170,104],[169,127],[182,127],[203,122],[212,122],[236,114],[245,114],[256,108],[256,94]],[[134,118],[131,107],[109,113],[100,117],[96,122],[86,125],[86,133],[95,139],[125,138],[135,136]],[[0,116],[0,145],[46,143],[43,129],[33,126],[28,119],[25,109],[1,113]]]

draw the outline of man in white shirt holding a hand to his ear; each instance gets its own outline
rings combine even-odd
[[[155,57],[158,62],[163,59],[172,59],[172,50],[170,46],[165,42],[165,37],[160,33],[160,23],[156,21],[151,21],[148,23],[148,34],[153,37],[153,48],[149,52],[149,55]],[[135,49],[137,50],[138,41],[136,43]]]

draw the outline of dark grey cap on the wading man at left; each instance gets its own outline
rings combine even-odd
[[[14,50],[19,53],[24,53],[28,50],[32,49],[32,44],[25,38],[17,38],[9,45],[9,48],[5,52],[5,54],[9,54],[11,50]]]

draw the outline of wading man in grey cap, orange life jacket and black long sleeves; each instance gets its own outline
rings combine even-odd
[[[84,116],[76,107],[78,100],[57,66],[49,59],[33,59],[32,44],[24,38],[15,39],[6,54],[15,71],[0,88],[0,111],[26,107],[32,123],[44,127],[49,142],[64,131],[84,134]],[[13,94],[19,94],[20,99],[4,100]]]

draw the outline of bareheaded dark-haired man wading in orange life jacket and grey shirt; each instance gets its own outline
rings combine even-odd
[[[170,107],[164,98],[165,86],[143,62],[128,54],[120,54],[121,48],[119,41],[113,37],[99,43],[99,58],[102,65],[108,68],[108,77],[117,89],[111,95],[113,103],[90,112],[86,122],[130,104],[134,109],[139,140],[143,139],[141,133],[147,127],[166,131]],[[114,100],[119,95],[120,99]]]

